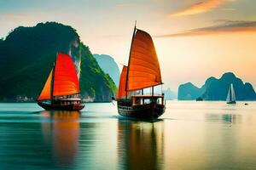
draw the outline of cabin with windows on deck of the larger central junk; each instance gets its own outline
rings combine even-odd
[[[165,105],[164,104],[164,94],[159,94],[159,95],[142,95],[142,94],[137,94],[137,95],[132,95],[132,105],[146,105],[150,103],[155,103],[158,105]]]

